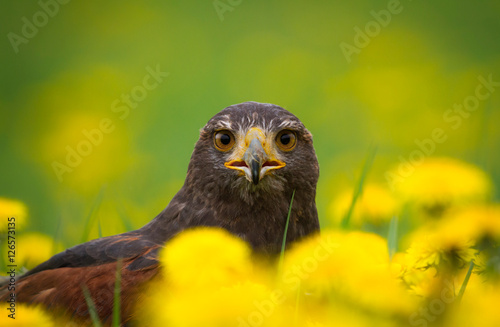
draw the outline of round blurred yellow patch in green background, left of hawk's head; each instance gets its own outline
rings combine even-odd
[[[40,138],[38,149],[39,156],[51,164],[50,177],[81,194],[94,194],[129,168],[136,158],[123,156],[130,151],[128,135],[105,117],[82,111],[65,112],[55,119],[57,126]]]

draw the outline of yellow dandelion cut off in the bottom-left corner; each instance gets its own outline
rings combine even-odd
[[[11,318],[9,315],[12,312],[7,310],[2,310],[0,315],[0,326],[3,327],[52,327],[56,326],[53,318],[41,307],[38,306],[27,306],[25,304],[16,303],[15,314]]]

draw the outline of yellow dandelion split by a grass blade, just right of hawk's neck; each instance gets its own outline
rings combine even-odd
[[[338,225],[349,210],[353,190],[340,193],[329,208],[330,218]],[[399,203],[391,192],[378,184],[368,183],[363,187],[363,193],[358,198],[351,217],[352,226],[363,223],[380,225],[388,222],[399,211]]]

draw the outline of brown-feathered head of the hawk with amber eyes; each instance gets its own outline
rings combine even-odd
[[[190,169],[201,169],[200,160],[219,185],[250,193],[300,183],[315,188],[319,174],[312,136],[300,120],[279,106],[256,102],[230,106],[207,123]]]

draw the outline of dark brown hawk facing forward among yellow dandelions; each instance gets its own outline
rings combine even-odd
[[[274,104],[229,106],[201,129],[184,185],[160,214],[138,230],[54,255],[17,280],[17,301],[88,320],[86,287],[101,321],[110,323],[120,264],[125,323],[144,283],[159,272],[159,249],[185,229],[224,228],[256,253],[277,254],[294,194],[286,243],[318,232],[318,176],[312,135],[297,117]],[[0,298],[8,296],[4,286]]]

